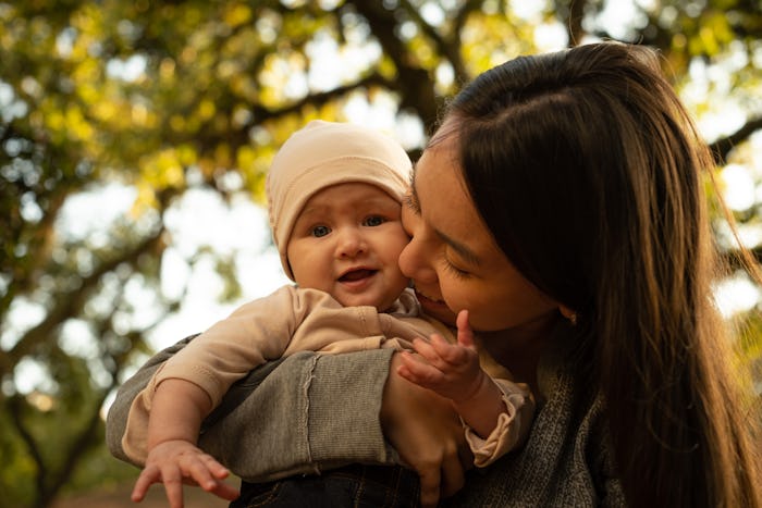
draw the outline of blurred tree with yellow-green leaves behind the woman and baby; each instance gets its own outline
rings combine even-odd
[[[358,101],[386,108],[397,125],[415,126],[403,139],[415,157],[443,100],[478,72],[599,38],[636,41],[663,52],[718,166],[742,168],[759,188],[759,1],[623,9],[602,0],[0,1],[3,503],[49,506],[66,485],[105,482],[101,408],[183,299],[162,288],[168,218],[193,189],[261,201],[270,158],[308,120],[346,119]],[[132,193],[126,213],[63,216],[75,198],[111,196],[114,186]],[[759,196],[735,213],[761,259]],[[230,252],[209,245],[184,262],[209,257],[224,296],[238,297]],[[741,315],[751,323],[742,344],[759,357],[759,311],[750,315]]]

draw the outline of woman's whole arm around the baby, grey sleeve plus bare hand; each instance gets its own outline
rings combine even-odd
[[[120,388],[107,419],[115,457],[128,461],[121,442],[133,398],[181,347],[158,354]],[[396,374],[388,383],[392,356],[391,349],[299,352],[267,363],[229,392],[232,404],[223,399],[210,416],[199,447],[233,473],[259,482],[353,462],[400,463],[386,437],[419,472],[429,496],[439,495],[440,481],[445,494],[454,492],[463,483],[460,464],[470,460],[457,416],[447,400]],[[226,414],[225,407],[232,407]]]

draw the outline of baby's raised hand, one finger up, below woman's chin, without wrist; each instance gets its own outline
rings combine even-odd
[[[479,389],[482,371],[467,310],[458,313],[457,330],[457,344],[437,334],[429,342],[416,338],[413,348],[418,355],[402,354],[400,375],[455,402],[471,397]]]

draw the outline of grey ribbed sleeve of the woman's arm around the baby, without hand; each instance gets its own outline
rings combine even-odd
[[[107,418],[107,444],[116,458],[131,462],[122,437],[135,396],[192,338],[157,354],[119,389]],[[233,385],[205,421],[199,447],[250,481],[353,462],[396,463],[379,422],[392,352],[303,352],[269,362]]]

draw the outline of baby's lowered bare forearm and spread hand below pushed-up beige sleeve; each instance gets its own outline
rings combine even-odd
[[[132,499],[140,501],[148,487],[163,483],[170,507],[183,506],[183,483],[198,484],[224,499],[238,493],[222,480],[228,470],[197,446],[201,421],[211,410],[211,400],[200,386],[168,379],[156,388],[148,420],[148,457]]]

